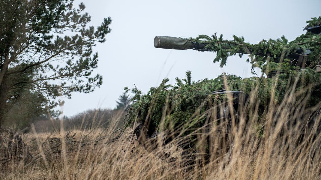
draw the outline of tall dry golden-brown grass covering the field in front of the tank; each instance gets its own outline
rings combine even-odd
[[[116,128],[121,119],[114,117],[109,128],[74,129],[74,136],[64,128],[48,133],[33,128],[22,139],[30,145],[34,160],[9,161],[1,166],[0,178],[321,179],[321,104],[305,108],[308,95],[290,89],[288,98],[279,104],[269,102],[260,114],[256,90],[245,104],[250,112],[231,117],[238,123],[231,124],[227,135],[222,132],[228,119],[225,125],[208,121],[194,130],[190,137],[196,137],[198,144],[193,162],[185,161],[184,150],[178,147],[190,137],[177,136],[172,143],[147,152],[132,128]],[[159,144],[163,137],[159,135]],[[56,149],[48,145],[57,139]],[[164,152],[171,157],[160,158]]]

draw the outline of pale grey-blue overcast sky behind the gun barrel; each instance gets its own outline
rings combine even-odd
[[[185,78],[188,70],[195,81],[222,73],[252,76],[251,64],[245,62],[247,56],[229,57],[226,66],[220,68],[219,63],[213,63],[216,53],[155,48],[155,36],[189,38],[217,32],[224,39],[235,34],[254,44],[282,35],[291,41],[305,33],[306,21],[321,15],[320,0],[75,0],[74,5],[80,2],[91,15],[90,25],[97,27],[103,18],[111,17],[112,30],[105,43],[93,48],[99,56],[93,74],[102,75],[103,84],[91,93],[75,92],[71,99],[64,98],[61,110],[65,116],[94,108],[114,109],[124,87],[136,86],[147,93],[164,78],[175,84],[175,78]]]

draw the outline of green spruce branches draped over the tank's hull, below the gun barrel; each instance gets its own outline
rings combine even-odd
[[[271,101],[279,104],[284,98],[289,98],[287,93],[291,88],[300,92],[302,97],[310,97],[305,102],[306,107],[315,106],[321,101],[320,73],[311,69],[297,71],[289,63],[281,63],[281,65],[277,68],[284,73],[277,74],[273,78],[242,79],[235,75],[222,74],[215,79],[204,79],[188,84],[191,73],[187,71],[187,78],[176,78],[174,86],[166,84],[169,79],[164,79],[159,87],[151,88],[147,94],[142,95],[136,88],[127,89],[133,92],[135,97],[127,113],[127,126],[134,121],[150,120],[159,131],[174,129],[183,124],[186,124],[185,128],[200,127],[204,120],[209,118],[209,110],[214,105],[217,105],[218,113],[215,116],[220,116],[220,108],[228,103],[227,94],[212,94],[213,91],[222,89],[251,94],[257,88],[257,93],[251,95],[262,107],[262,111]],[[275,68],[275,66],[270,67]],[[309,96],[310,94],[312,95]],[[293,103],[298,105],[302,101],[300,98],[295,98]]]

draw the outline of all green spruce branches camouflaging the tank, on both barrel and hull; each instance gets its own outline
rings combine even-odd
[[[316,24],[320,18],[308,21],[309,25]],[[244,42],[243,37],[233,36],[233,40],[225,40],[223,36],[199,35],[190,38],[197,43],[205,43],[205,49],[216,52],[215,62],[220,66],[226,64],[232,55],[248,54],[248,62],[252,67],[258,67],[262,75],[240,78],[235,75],[222,74],[215,79],[200,81],[191,80],[191,72],[186,72],[186,79],[176,78],[174,85],[166,84],[164,79],[157,88],[151,88],[147,94],[142,94],[135,87],[128,89],[134,93],[133,104],[127,114],[127,126],[134,121],[150,121],[158,131],[173,130],[177,127],[195,129],[204,125],[207,119],[220,118],[222,107],[228,105],[228,94],[213,94],[217,90],[243,91],[254,104],[248,105],[250,117],[251,106],[258,106],[260,120],[265,109],[271,104],[291,103],[291,107],[314,107],[321,101],[321,74],[314,70],[321,63],[321,35],[310,32],[288,42],[282,36],[279,39],[262,39],[258,44]],[[300,69],[289,58],[297,49],[310,50],[305,56],[308,67]],[[253,69],[252,68],[252,69]],[[274,75],[272,75],[274,73]],[[294,94],[294,95],[293,95]],[[215,110],[216,109],[216,110]],[[216,112],[217,114],[211,114]],[[213,116],[212,116],[213,115]],[[260,122],[265,123],[265,122]],[[262,136],[263,128],[258,124],[257,131]],[[188,132],[185,132],[188,133]]]

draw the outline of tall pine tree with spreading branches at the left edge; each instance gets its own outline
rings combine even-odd
[[[34,108],[50,110],[63,103],[58,96],[102,84],[102,76],[91,74],[98,64],[92,47],[105,42],[111,19],[88,27],[84,9],[73,0],[0,1],[0,125],[24,91],[43,99]]]

